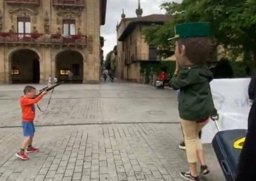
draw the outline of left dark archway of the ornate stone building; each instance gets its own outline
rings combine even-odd
[[[39,55],[33,50],[15,51],[11,57],[11,80],[13,84],[39,84]]]

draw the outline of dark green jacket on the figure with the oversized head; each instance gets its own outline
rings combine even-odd
[[[180,118],[196,121],[217,113],[210,89],[212,79],[210,70],[198,65],[184,67],[173,76],[170,86],[180,90]]]

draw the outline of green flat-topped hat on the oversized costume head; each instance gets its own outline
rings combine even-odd
[[[168,39],[184,39],[188,37],[212,37],[211,24],[208,22],[183,23],[175,26],[175,36]]]

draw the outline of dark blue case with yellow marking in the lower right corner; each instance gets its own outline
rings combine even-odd
[[[234,142],[246,137],[246,133],[246,129],[219,131],[212,140],[212,147],[226,181],[235,180],[241,150],[234,148]]]

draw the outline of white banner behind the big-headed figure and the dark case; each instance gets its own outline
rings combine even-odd
[[[211,81],[214,104],[220,118],[221,130],[247,129],[250,100],[248,86],[250,79],[215,79]],[[211,143],[217,128],[210,122],[202,129],[202,143]]]

